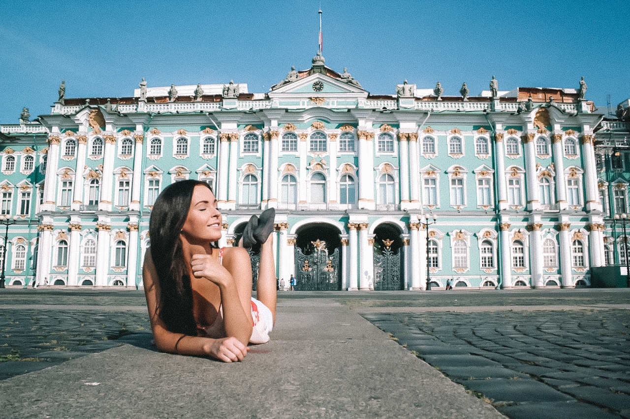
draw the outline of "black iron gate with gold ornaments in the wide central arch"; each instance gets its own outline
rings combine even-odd
[[[305,255],[295,247],[295,290],[296,291],[339,291],[341,276],[339,270],[339,248],[328,255],[326,242],[311,242],[312,253]],[[307,251],[310,249],[307,249]]]

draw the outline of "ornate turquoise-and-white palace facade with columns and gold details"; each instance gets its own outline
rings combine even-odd
[[[407,81],[375,95],[319,53],[261,93],[143,79],[128,98],[66,98],[62,85],[49,115],[1,125],[6,284],[142,287],[152,204],[200,179],[222,246],[276,208],[277,276],[299,290],[588,285],[606,260],[602,115],[585,91],[500,91],[493,77],[478,96]]]

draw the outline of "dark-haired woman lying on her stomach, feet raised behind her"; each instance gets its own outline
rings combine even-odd
[[[157,198],[149,221],[151,248],[142,279],[157,349],[243,360],[248,343],[269,340],[275,322],[273,209],[252,216],[239,245],[260,244],[256,297],[249,254],[219,249],[221,213],[205,182],[180,181]],[[260,300],[260,301],[259,301]]]

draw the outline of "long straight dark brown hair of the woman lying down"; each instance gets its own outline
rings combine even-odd
[[[194,180],[175,182],[166,187],[157,197],[149,221],[151,259],[160,287],[159,316],[169,331],[190,336],[197,334],[197,323],[193,316],[193,294],[180,232],[197,185],[212,191],[206,182]],[[212,243],[212,246],[216,247],[216,244]]]

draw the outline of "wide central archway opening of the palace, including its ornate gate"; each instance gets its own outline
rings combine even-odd
[[[295,241],[295,290],[340,290],[340,250],[341,239],[335,227],[314,223],[300,228]]]

